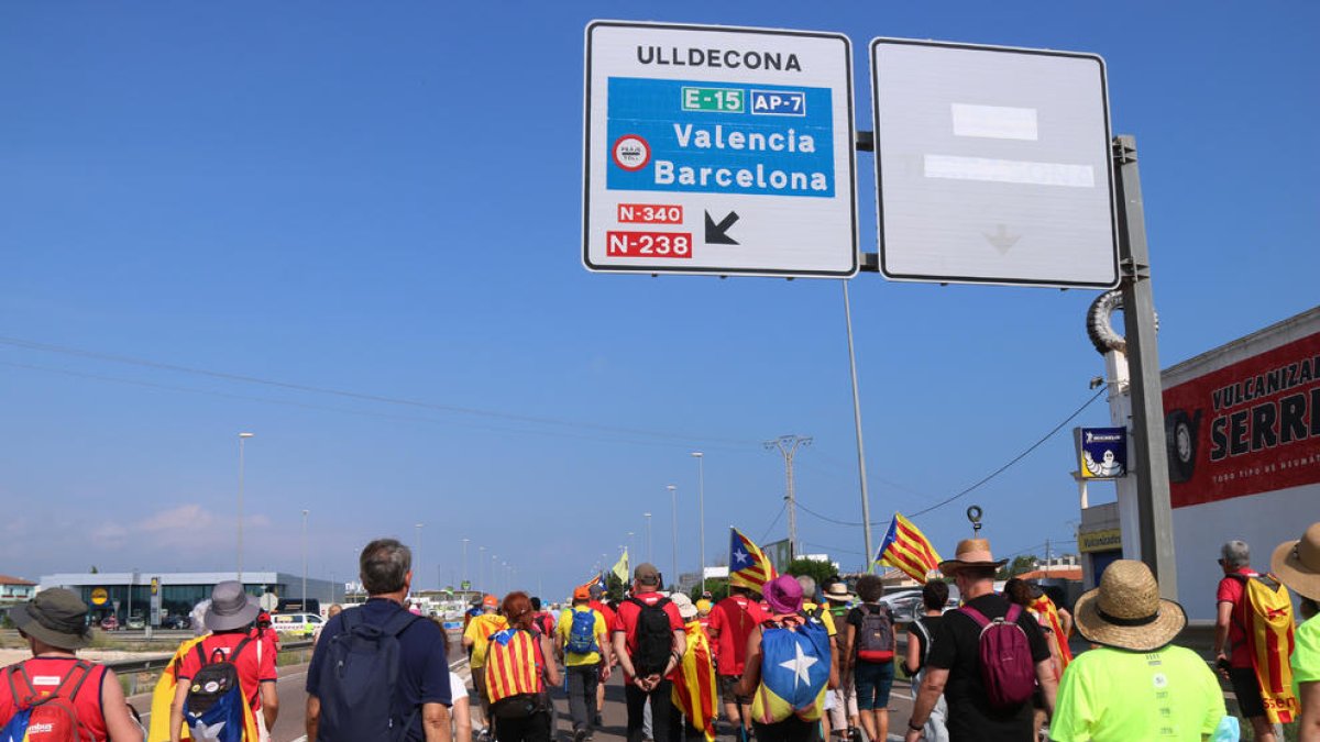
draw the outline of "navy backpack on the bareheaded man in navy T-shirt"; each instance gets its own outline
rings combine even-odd
[[[395,687],[403,661],[399,635],[420,615],[399,610],[384,626],[367,623],[360,607],[339,614],[342,631],[330,638],[317,665],[321,696],[318,737],[334,742],[403,739],[417,718],[395,714]]]

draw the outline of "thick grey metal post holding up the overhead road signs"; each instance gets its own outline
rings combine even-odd
[[[1137,452],[1137,511],[1140,522],[1142,561],[1159,580],[1160,594],[1177,599],[1173,564],[1173,523],[1168,495],[1168,452],[1164,444],[1164,399],[1159,350],[1155,342],[1155,300],[1146,244],[1137,139],[1119,135],[1113,141],[1118,202],[1118,259],[1122,268],[1123,325],[1131,371],[1133,450]]]

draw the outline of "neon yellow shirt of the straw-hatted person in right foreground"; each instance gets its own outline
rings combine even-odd
[[[1059,683],[1049,738],[1056,742],[1200,742],[1225,714],[1224,692],[1196,652],[1101,647],[1082,652]]]

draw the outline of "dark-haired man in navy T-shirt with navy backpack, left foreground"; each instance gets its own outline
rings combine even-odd
[[[449,742],[445,635],[404,607],[412,552],[376,539],[358,565],[367,602],[326,622],[308,665],[308,742]]]

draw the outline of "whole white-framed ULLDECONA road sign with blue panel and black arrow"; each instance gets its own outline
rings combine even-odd
[[[833,33],[591,22],[587,269],[857,273],[850,59]]]

